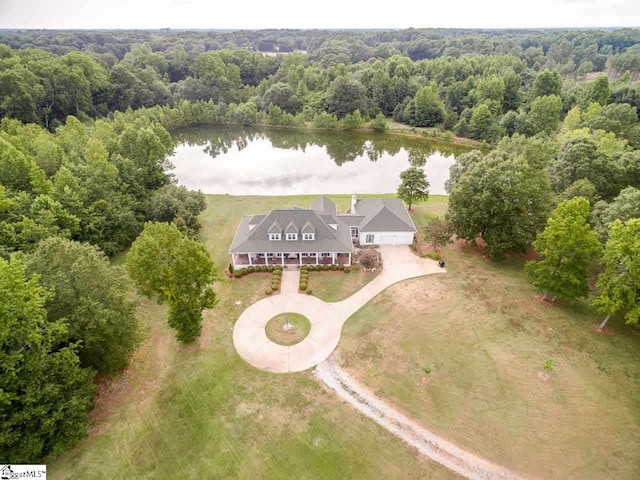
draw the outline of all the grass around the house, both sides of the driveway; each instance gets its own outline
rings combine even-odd
[[[207,197],[202,240],[223,269],[241,215],[313,198]],[[350,200],[332,198],[343,211]],[[445,209],[446,197],[415,206],[416,225]],[[638,330],[615,318],[601,335],[584,303],[539,302],[519,260],[497,264],[458,245],[444,255],[446,275],[391,287],[354,315],[339,360],[427,428],[525,474],[640,477]],[[319,273],[309,274],[314,293]],[[186,347],[165,307],[143,301],[147,341],[101,389],[93,433],[48,465],[50,477],[454,478],[310,373],[273,375],[240,359],[233,325],[269,285],[266,274],[219,282],[220,303]]]

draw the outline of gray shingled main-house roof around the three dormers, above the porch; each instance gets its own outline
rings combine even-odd
[[[351,252],[353,245],[349,228],[342,222],[335,220],[337,230],[325,222],[325,215],[320,216],[315,210],[273,210],[262,215],[262,221],[249,229],[255,216],[242,217],[238,230],[229,249],[230,253],[299,253],[299,252]],[[333,217],[330,217],[333,218]],[[269,228],[274,222],[280,225],[295,223],[306,225],[309,222],[315,228],[314,240],[269,240]]]

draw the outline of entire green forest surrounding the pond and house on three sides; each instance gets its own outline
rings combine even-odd
[[[93,380],[140,339],[130,279],[199,335],[215,274],[204,197],[169,174],[177,127],[392,118],[483,142],[452,167],[446,231],[496,259],[533,246],[554,298],[599,263],[594,307],[637,323],[639,109],[639,30],[0,32],[0,450],[36,463],[86,433]],[[127,275],[109,257],[132,243]]]

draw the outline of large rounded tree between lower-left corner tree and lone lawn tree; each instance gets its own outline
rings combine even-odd
[[[140,340],[136,303],[122,267],[112,266],[96,247],[52,237],[26,258],[27,272],[50,289],[50,321],[66,327],[67,345],[79,345],[83,367],[114,374],[127,366]]]

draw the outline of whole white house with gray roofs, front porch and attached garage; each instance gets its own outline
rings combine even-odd
[[[351,197],[349,213],[322,195],[309,208],[242,217],[229,253],[233,267],[351,265],[354,244],[410,245],[416,227],[402,200]]]

